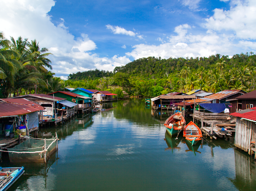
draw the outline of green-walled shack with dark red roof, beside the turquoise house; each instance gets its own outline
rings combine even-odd
[[[77,111],[80,111],[82,113],[91,111],[91,102],[92,102],[91,97],[86,97],[79,94],[75,94],[73,92],[64,92],[64,91],[58,91],[48,95],[51,97],[58,96],[61,98],[65,98],[67,101],[78,104],[78,107],[73,108],[73,110],[76,109]]]

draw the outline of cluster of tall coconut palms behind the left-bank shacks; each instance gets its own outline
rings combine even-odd
[[[36,40],[11,37],[9,41],[0,32],[0,97],[59,90],[61,79],[46,69],[52,69],[49,54]]]

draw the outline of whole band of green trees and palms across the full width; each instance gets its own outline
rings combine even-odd
[[[54,77],[47,48],[34,40],[19,37],[8,41],[0,32],[1,97],[27,93],[51,93],[65,87],[107,90],[123,97],[154,97],[169,92],[201,89],[218,92],[227,89],[255,89],[256,55],[236,54],[232,58],[216,54],[209,58],[155,57],[134,60],[114,71],[89,70],[70,74],[66,81]]]

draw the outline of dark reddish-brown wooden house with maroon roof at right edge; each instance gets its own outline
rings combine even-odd
[[[233,99],[229,99],[232,106],[230,112],[239,111],[239,109],[249,109],[256,107],[256,90],[243,94]]]

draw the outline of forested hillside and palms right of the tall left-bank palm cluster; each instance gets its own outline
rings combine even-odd
[[[195,59],[148,57],[116,67],[113,72],[96,69],[70,74],[68,83],[89,80],[96,89],[114,91],[118,86],[129,95],[145,97],[193,89],[250,92],[256,85],[255,61],[253,52],[236,54],[231,59],[220,54]]]

